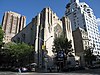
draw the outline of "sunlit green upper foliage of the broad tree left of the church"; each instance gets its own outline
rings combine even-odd
[[[25,56],[33,51],[33,46],[29,46],[25,43],[7,43],[4,45],[5,49],[7,49],[8,54],[12,54],[12,56],[16,56],[17,58],[20,56]]]

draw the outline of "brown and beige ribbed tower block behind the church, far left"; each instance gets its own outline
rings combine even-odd
[[[26,17],[15,12],[5,12],[2,20],[2,29],[5,33],[4,42],[8,43],[15,34],[19,33],[26,25]]]

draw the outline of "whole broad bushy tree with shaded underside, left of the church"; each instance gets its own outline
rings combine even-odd
[[[34,61],[34,48],[25,43],[7,43],[2,52],[7,66],[24,66]]]

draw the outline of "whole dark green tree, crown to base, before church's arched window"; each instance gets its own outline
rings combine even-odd
[[[60,68],[63,68],[66,65],[66,60],[69,52],[73,51],[71,41],[68,41],[68,39],[63,35],[61,35],[60,37],[56,37],[54,39],[54,45],[52,51],[55,54],[54,58],[55,64],[58,66],[61,65]],[[63,55],[63,58],[61,58],[63,61],[62,63],[58,63],[60,52],[62,52]]]

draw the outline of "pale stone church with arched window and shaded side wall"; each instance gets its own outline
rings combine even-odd
[[[39,67],[43,66],[44,55],[43,51],[47,51],[48,66],[53,64],[52,46],[55,37],[58,37],[65,32],[68,40],[72,40],[72,48],[74,49],[71,22],[67,17],[61,20],[58,18],[51,8],[44,8],[41,13],[35,16],[32,21],[20,33],[12,38],[14,42],[25,42],[33,45],[37,54],[37,64]],[[52,36],[52,37],[51,37]],[[45,45],[45,49],[42,46]]]

